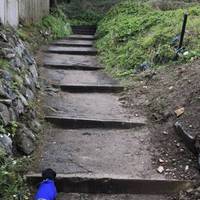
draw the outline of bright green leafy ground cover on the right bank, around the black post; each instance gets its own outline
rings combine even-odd
[[[147,1],[126,0],[113,7],[97,32],[97,48],[107,70],[126,76],[142,64],[157,67],[173,62],[185,12],[189,18],[179,61],[200,56],[199,5],[163,11]]]

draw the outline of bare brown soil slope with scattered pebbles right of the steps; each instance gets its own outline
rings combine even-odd
[[[148,116],[152,163],[163,166],[165,175],[177,179],[198,179],[197,158],[184,145],[174,130],[178,120],[190,134],[200,130],[200,61],[185,65],[165,66],[158,70],[133,75],[133,84],[121,98],[134,112],[137,107]],[[135,101],[139,99],[139,101]],[[184,108],[177,117],[175,110]],[[144,115],[144,114],[143,114]]]

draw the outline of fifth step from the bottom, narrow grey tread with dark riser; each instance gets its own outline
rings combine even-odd
[[[51,45],[45,52],[70,55],[97,55],[97,50],[93,47],[62,47]]]

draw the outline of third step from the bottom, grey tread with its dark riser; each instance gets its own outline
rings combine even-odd
[[[121,92],[123,87],[101,71],[52,70],[41,68],[41,77],[68,92]],[[51,80],[51,81],[49,81]]]

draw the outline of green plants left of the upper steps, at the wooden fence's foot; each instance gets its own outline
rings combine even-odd
[[[35,51],[45,42],[70,35],[71,27],[65,14],[60,9],[55,9],[38,23],[19,28],[17,33]]]

